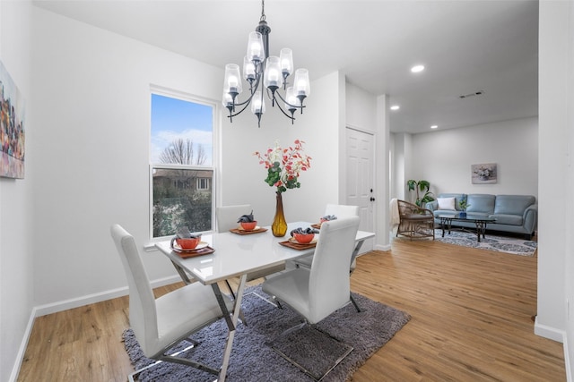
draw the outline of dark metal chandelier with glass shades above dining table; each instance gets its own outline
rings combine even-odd
[[[225,65],[223,81],[223,106],[229,111],[228,118],[241,114],[251,106],[251,112],[257,115],[257,126],[261,127],[261,115],[265,113],[264,93],[271,100],[271,106],[277,106],[286,117],[295,120],[294,114],[300,109],[303,114],[303,100],[310,94],[309,71],[297,69],[293,85],[287,78],[293,72],[293,54],[291,49],[281,49],[279,57],[269,55],[269,33],[271,28],[265,21],[265,0],[261,1],[261,18],[256,31],[249,33],[248,52],[243,58],[243,75],[239,73],[238,64]],[[241,77],[248,82],[248,98],[239,100],[243,91]],[[284,96],[281,95],[283,88]],[[282,106],[283,104],[283,106]],[[289,113],[289,114],[288,114]]]

